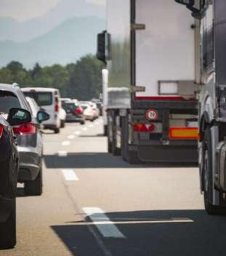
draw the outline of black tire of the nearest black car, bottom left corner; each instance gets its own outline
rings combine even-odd
[[[0,223],[0,249],[12,249],[16,244],[16,199],[12,201],[12,212],[5,223]]]

